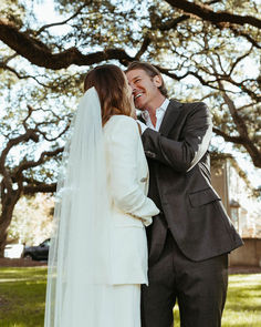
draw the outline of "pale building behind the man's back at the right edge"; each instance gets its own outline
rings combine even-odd
[[[230,155],[211,161],[211,180],[215,190],[244,238],[261,238],[261,201],[253,195],[246,173]]]

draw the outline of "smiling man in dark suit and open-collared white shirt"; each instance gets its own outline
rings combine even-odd
[[[148,63],[132,62],[126,75],[142,110],[148,195],[160,210],[147,228],[143,327],[169,327],[176,300],[182,327],[219,327],[228,253],[242,241],[210,183],[210,113],[202,102],[168,100],[159,71]]]

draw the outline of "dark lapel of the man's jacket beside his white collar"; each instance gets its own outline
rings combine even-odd
[[[170,100],[169,105],[165,112],[161,125],[159,127],[159,132],[164,135],[167,136],[170,129],[174,126],[176,123],[180,112],[181,112],[181,103]]]

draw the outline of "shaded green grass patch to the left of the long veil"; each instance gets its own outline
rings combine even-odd
[[[45,267],[0,268],[0,326],[42,327]]]

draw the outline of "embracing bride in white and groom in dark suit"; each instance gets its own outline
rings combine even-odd
[[[242,245],[210,182],[207,106],[167,98],[159,71],[100,65],[64,150],[45,327],[219,327]],[[136,109],[140,117],[136,117]]]

